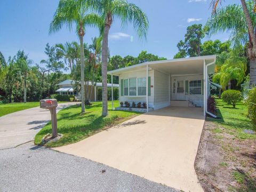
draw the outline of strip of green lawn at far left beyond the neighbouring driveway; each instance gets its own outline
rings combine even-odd
[[[0,117],[20,110],[39,106],[39,102],[0,104]]]

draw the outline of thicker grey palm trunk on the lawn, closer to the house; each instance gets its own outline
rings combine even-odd
[[[107,67],[108,67],[108,33],[110,26],[105,25],[102,38],[102,116],[108,115],[108,87],[107,87]]]

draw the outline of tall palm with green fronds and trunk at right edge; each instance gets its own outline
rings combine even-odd
[[[256,20],[255,0],[241,0],[241,5],[228,5],[217,9],[224,0],[212,0],[213,14],[207,22],[212,33],[217,31],[231,31],[234,43],[247,43],[250,60],[250,85],[256,84]]]

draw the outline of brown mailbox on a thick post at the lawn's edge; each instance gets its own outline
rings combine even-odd
[[[55,138],[58,136],[57,132],[57,112],[56,108],[58,106],[57,99],[41,99],[40,108],[49,109],[52,119],[52,137]]]

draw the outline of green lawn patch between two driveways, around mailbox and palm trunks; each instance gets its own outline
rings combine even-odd
[[[114,106],[119,106],[118,101],[114,101]],[[110,108],[111,102],[108,102],[108,109]],[[81,114],[81,106],[62,109],[57,115],[57,121],[58,133],[63,134],[63,137],[56,142],[46,143],[45,146],[58,147],[68,145],[69,143],[83,140],[106,126],[124,122],[126,119],[141,114],[133,111],[108,110],[108,116],[102,117],[101,109],[102,102],[93,102],[92,106],[86,106],[83,114]],[[51,133],[50,122],[36,134],[35,144],[41,145],[41,140],[47,133]]]

